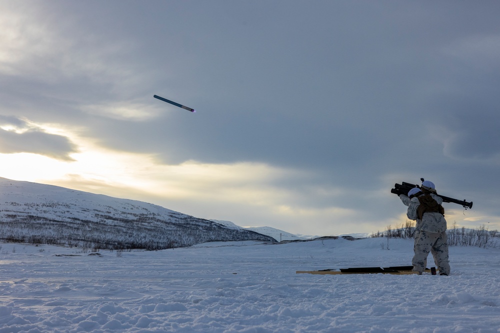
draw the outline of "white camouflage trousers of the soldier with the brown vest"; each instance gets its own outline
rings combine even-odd
[[[414,256],[411,260],[413,271],[423,272],[427,264],[427,256],[429,252],[432,252],[439,274],[449,275],[448,236],[446,232],[420,231],[418,235],[415,235],[413,252]]]

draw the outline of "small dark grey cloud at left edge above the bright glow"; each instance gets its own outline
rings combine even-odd
[[[64,161],[77,147],[67,137],[50,134],[23,119],[0,115],[0,152],[32,153]]]

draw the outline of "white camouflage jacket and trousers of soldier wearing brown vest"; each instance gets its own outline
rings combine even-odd
[[[400,195],[399,197],[401,198]],[[431,193],[430,196],[437,202],[442,204],[442,199]],[[401,198],[403,203],[409,199]],[[415,227],[415,242],[413,245],[414,256],[411,260],[413,271],[423,272],[427,262],[429,252],[432,252],[434,262],[437,265],[439,274],[449,275],[449,259],[448,259],[448,237],[446,235],[446,220],[439,213],[427,212],[424,213],[422,219],[418,219],[417,208],[420,205],[418,197],[411,198],[408,204],[406,216],[410,220],[416,221]]]

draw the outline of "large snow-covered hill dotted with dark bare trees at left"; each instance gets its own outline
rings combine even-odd
[[[233,226],[141,201],[0,177],[0,239],[6,241],[153,250],[209,241],[276,241]]]

